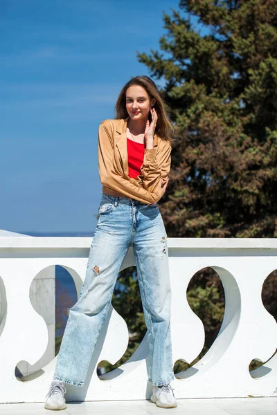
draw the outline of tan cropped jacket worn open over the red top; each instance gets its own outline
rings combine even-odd
[[[105,120],[99,127],[98,167],[102,193],[130,197],[142,203],[156,203],[163,196],[159,180],[165,183],[170,171],[171,145],[154,134],[154,149],[144,150],[141,174],[128,176],[127,121]]]

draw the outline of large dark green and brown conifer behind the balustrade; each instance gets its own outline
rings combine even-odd
[[[139,53],[175,124],[160,203],[170,237],[277,234],[277,3],[181,0]],[[195,17],[201,28],[191,23]]]

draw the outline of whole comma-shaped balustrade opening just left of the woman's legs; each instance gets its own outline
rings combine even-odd
[[[48,340],[43,355],[33,365],[20,360],[15,367],[17,380],[26,382],[42,376],[60,349],[69,308],[77,300],[82,280],[75,270],[60,265],[43,268],[30,284],[29,298],[33,310],[43,318]],[[34,327],[35,329],[35,327]]]

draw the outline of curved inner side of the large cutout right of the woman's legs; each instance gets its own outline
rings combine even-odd
[[[177,379],[186,379],[191,376],[200,376],[204,371],[216,365],[224,356],[224,353],[231,344],[233,337],[238,329],[240,321],[241,298],[240,290],[235,278],[229,271],[219,266],[210,266],[220,277],[225,293],[225,311],[220,331],[218,332],[210,349],[206,351],[204,356],[189,367],[185,371],[181,371],[175,375]]]

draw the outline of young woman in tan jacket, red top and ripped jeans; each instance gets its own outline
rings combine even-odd
[[[166,230],[157,201],[166,192],[172,126],[157,86],[133,77],[118,96],[116,119],[100,124],[102,199],[80,298],[71,308],[46,409],[66,407],[64,383],[83,386],[111,304],[120,266],[133,246],[150,346],[152,402],[176,407],[170,339]]]

